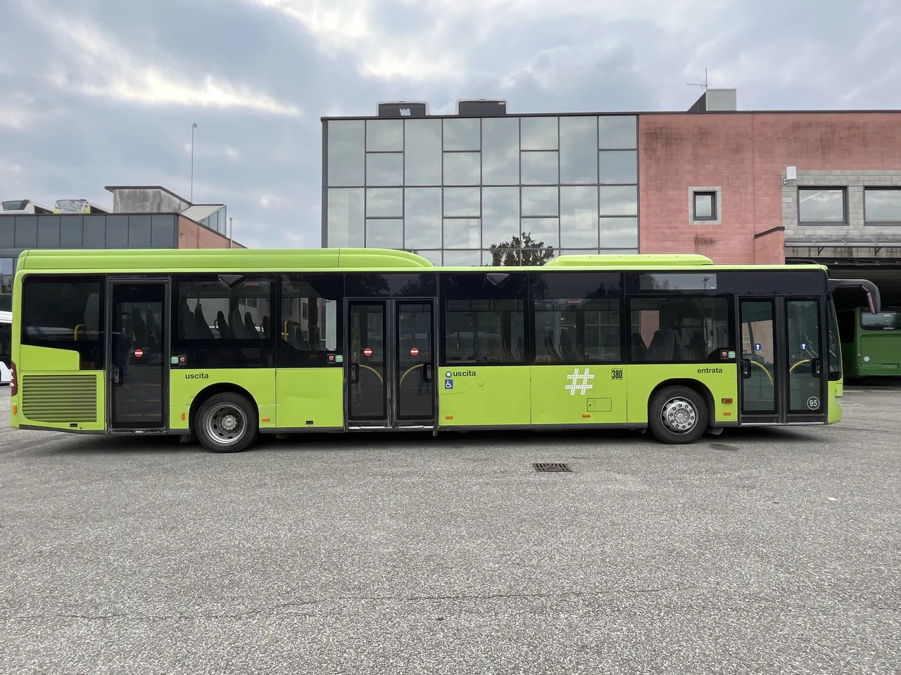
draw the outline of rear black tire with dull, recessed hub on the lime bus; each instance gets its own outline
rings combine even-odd
[[[257,411],[246,396],[231,392],[216,394],[197,410],[194,432],[207,450],[240,453],[257,440]]]

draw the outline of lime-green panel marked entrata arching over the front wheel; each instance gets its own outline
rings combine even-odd
[[[651,392],[666,380],[694,380],[704,384],[714,398],[711,422],[738,422],[738,365],[731,364],[635,364],[625,366],[629,392],[629,421],[646,424]],[[732,399],[724,403],[723,399]]]

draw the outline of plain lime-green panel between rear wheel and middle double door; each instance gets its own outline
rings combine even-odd
[[[279,368],[276,424],[288,428],[344,427],[344,369]]]

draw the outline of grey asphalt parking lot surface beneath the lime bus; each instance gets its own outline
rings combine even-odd
[[[8,427],[0,672],[896,673],[901,390],[833,428]],[[572,473],[535,473],[566,462]]]

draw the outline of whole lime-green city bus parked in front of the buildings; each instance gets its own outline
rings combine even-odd
[[[12,425],[177,434],[650,429],[691,443],[842,417],[823,266],[573,255],[435,267],[384,249],[33,250]]]

